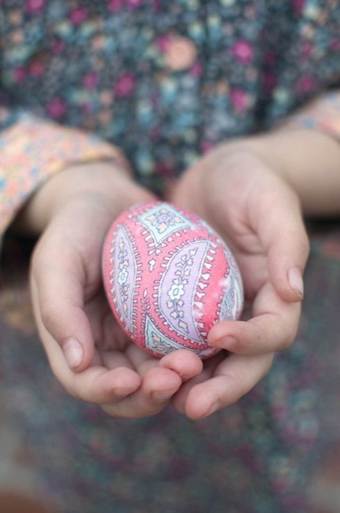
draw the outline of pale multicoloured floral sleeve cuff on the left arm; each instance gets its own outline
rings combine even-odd
[[[0,132],[0,152],[0,236],[33,191],[67,166],[114,160],[127,167],[119,150],[96,136],[27,114]]]

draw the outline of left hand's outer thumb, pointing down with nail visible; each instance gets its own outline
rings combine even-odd
[[[51,251],[48,259],[42,250],[33,256],[31,272],[35,318],[41,319],[44,329],[62,348],[69,368],[76,372],[87,368],[94,356],[92,329],[83,311],[84,287],[78,277],[78,265],[68,250],[55,255]]]

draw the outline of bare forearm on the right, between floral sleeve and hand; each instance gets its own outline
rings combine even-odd
[[[306,215],[340,214],[340,144],[309,129],[280,129],[244,145],[296,190]]]

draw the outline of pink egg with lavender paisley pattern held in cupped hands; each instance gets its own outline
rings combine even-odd
[[[155,357],[187,348],[217,352],[207,333],[243,307],[241,275],[206,222],[171,204],[140,204],[113,222],[103,247],[110,307],[135,343]]]

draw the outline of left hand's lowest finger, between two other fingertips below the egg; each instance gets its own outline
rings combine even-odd
[[[102,405],[104,412],[114,417],[142,418],[153,416],[169,403],[180,388],[179,375],[167,368],[154,367],[146,373],[142,386],[124,400]]]

